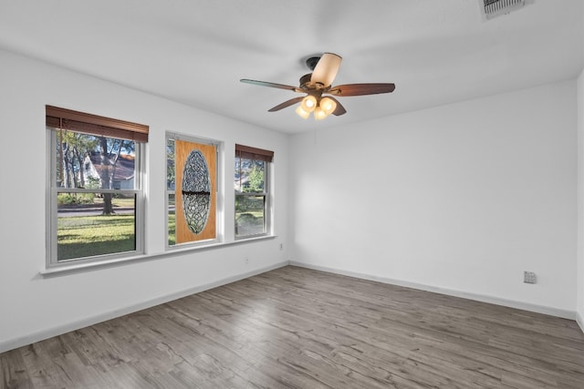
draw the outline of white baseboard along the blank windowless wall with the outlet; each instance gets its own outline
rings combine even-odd
[[[513,300],[501,299],[498,297],[488,296],[488,295],[484,295],[484,294],[456,291],[453,289],[440,288],[440,287],[425,285],[425,284],[416,283],[416,282],[405,282],[405,281],[394,280],[394,279],[386,278],[386,277],[378,277],[378,276],[360,273],[360,272],[355,272],[355,271],[344,271],[341,269],[329,268],[327,266],[318,266],[318,265],[313,265],[310,263],[304,263],[304,262],[298,262],[298,261],[290,261],[290,265],[303,267],[303,268],[307,268],[307,269],[313,269],[313,270],[317,270],[317,271],[327,271],[327,272],[331,272],[331,273],[335,273],[335,274],[345,275],[348,277],[360,278],[363,280],[388,283],[391,285],[403,286],[406,288],[417,289],[417,290],[425,291],[425,292],[441,293],[441,294],[446,294],[448,296],[460,297],[463,299],[474,300],[477,302],[488,302],[488,303],[495,304],[495,305],[502,305],[502,306],[506,306],[509,308],[516,308],[516,309],[529,311],[529,312],[548,314],[550,316],[557,316],[557,317],[561,317],[561,318],[569,319],[569,320],[577,320],[577,312],[568,311],[568,310],[561,310],[558,308],[547,307],[544,305],[531,304],[528,302],[516,302]],[[583,328],[583,331],[584,331],[584,327],[582,326],[583,323],[584,322],[581,321],[581,317],[580,317],[579,325],[580,325],[580,328]]]

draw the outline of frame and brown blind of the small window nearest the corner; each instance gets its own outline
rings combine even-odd
[[[238,165],[238,169],[235,169],[234,163],[234,178],[235,173],[239,171],[239,177],[241,178],[241,159],[250,159],[252,161],[261,160],[264,161],[264,191],[262,192],[245,192],[240,191],[238,192],[234,188],[235,196],[234,196],[234,239],[235,241],[245,241],[248,239],[255,239],[259,237],[265,237],[272,235],[272,190],[271,190],[271,181],[272,181],[272,164],[274,163],[274,151],[265,150],[262,148],[252,148],[249,146],[235,144],[235,160],[239,159],[240,163]],[[246,235],[239,235],[237,233],[237,211],[235,210],[235,206],[237,204],[237,197],[257,197],[262,196],[264,197],[264,225],[263,231],[260,233],[253,233],[253,234],[246,234]]]

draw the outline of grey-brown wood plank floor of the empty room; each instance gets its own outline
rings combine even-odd
[[[583,388],[576,322],[287,266],[0,354],[3,388]]]

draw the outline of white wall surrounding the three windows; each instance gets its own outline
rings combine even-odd
[[[137,307],[287,263],[287,136],[0,51],[0,352]],[[165,130],[224,141],[226,241],[233,241],[234,145],[276,152],[278,238],[42,277],[45,105],[150,126],[147,253],[164,251]],[[250,263],[245,265],[244,256]]]

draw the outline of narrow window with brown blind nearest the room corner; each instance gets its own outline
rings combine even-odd
[[[235,238],[269,230],[269,177],[273,151],[235,145]]]

